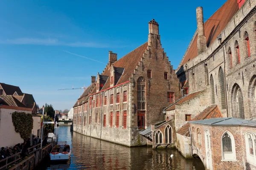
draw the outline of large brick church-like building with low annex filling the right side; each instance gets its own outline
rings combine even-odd
[[[256,1],[227,0],[205,23],[202,7],[196,14],[197,31],[176,70],[183,97],[163,111],[172,122],[172,144],[185,157],[198,155],[210,170],[256,169]],[[167,124],[152,128],[153,146],[166,146]],[[236,151],[224,151],[223,139]]]

